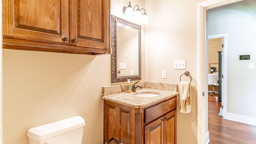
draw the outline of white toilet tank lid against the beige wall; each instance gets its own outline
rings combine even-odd
[[[80,128],[84,125],[84,119],[81,116],[74,116],[72,118],[30,128],[28,129],[27,136],[34,140],[44,140]]]

